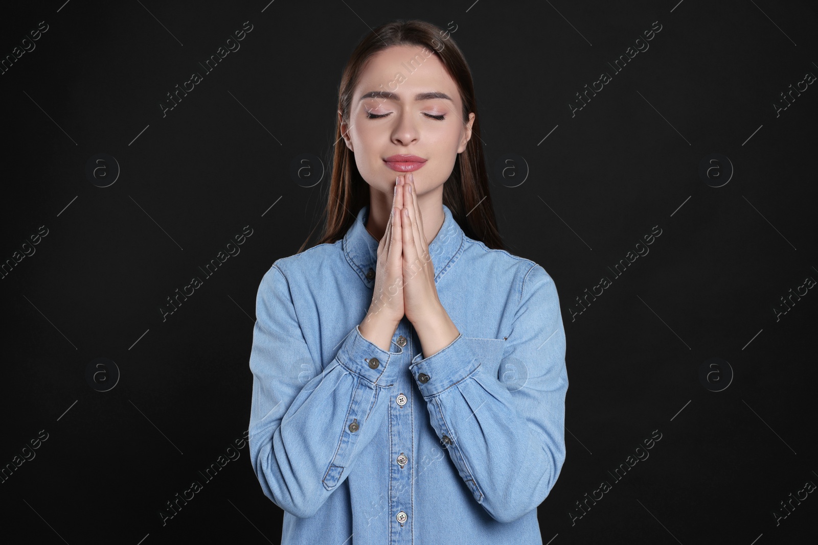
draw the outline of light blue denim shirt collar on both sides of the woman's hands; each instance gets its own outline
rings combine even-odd
[[[349,265],[361,277],[367,288],[375,288],[375,270],[378,263],[378,244],[380,240],[366,230],[366,219],[369,217],[369,206],[364,205],[357,213],[353,226],[344,235],[344,256]],[[434,284],[443,278],[446,271],[461,256],[465,234],[452,211],[443,204],[443,226],[429,243],[429,255],[434,265]]]

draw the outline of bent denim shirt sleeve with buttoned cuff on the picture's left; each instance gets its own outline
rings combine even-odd
[[[381,390],[398,373],[389,362],[400,353],[367,341],[356,325],[322,369],[301,327],[290,284],[273,264],[256,298],[249,454],[267,498],[305,518],[347,478],[375,436],[389,403]]]

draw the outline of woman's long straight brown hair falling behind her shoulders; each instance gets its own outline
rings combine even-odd
[[[349,57],[338,92],[339,117],[335,123],[335,157],[330,194],[326,200],[326,223],[321,238],[313,246],[335,243],[344,238],[357,219],[357,212],[370,203],[369,185],[358,172],[353,152],[344,142],[340,127],[342,118],[349,124],[350,105],[362,66],[378,51],[387,47],[409,45],[425,47],[438,56],[457,84],[463,103],[462,118],[466,120],[469,113],[474,112],[471,137],[465,150],[457,155],[452,174],[443,184],[443,204],[452,211],[452,217],[466,236],[483,242],[488,248],[506,249],[497,231],[492,197],[488,193],[488,174],[480,145],[480,116],[474,99],[471,71],[451,34],[448,38],[443,38],[448,43],[438,39],[447,34],[438,26],[423,20],[394,20],[367,34]],[[308,241],[309,237],[299,248],[299,253],[307,248]]]

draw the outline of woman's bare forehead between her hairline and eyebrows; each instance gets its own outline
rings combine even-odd
[[[378,51],[364,65],[354,101],[370,91],[397,93],[411,101],[417,92],[438,91],[460,104],[457,84],[433,51],[420,46],[393,46]]]

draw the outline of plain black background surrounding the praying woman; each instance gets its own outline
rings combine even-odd
[[[0,22],[3,58],[48,25],[0,75],[0,259],[48,233],[0,281],[2,467],[48,434],[0,484],[3,538],[279,543],[282,511],[246,447],[166,525],[159,511],[247,429],[258,283],[326,203],[328,174],[307,184],[291,165],[329,164],[341,69],[395,18],[449,29],[465,52],[501,234],[560,293],[568,457],[538,510],[543,542],[814,536],[815,493],[773,515],[818,483],[816,289],[774,311],[818,279],[816,84],[774,106],[818,74],[814,2],[63,2],[4,7]],[[240,49],[163,117],[245,21]],[[614,73],[654,21],[649,49]],[[603,71],[612,81],[572,116]],[[96,154],[119,164],[113,185],[86,176]],[[507,154],[516,177],[495,174]],[[699,175],[711,154],[735,169],[726,185],[712,186],[726,159]],[[245,226],[240,253],[163,321],[166,297]],[[649,254],[613,277],[654,226]],[[573,315],[602,276],[612,285]],[[109,391],[93,386],[113,364],[86,378],[96,358],[119,369]],[[701,380],[710,358],[733,377],[722,363]],[[614,481],[654,430],[649,458]]]

